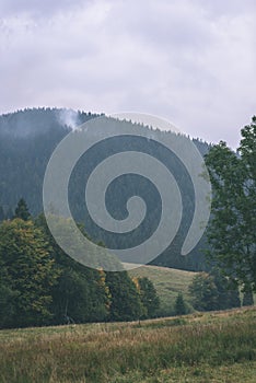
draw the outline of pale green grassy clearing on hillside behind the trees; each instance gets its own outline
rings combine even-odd
[[[191,283],[196,272],[177,270],[168,267],[141,266],[129,271],[131,277],[148,277],[154,285],[160,298],[160,312],[162,315],[174,313],[174,303],[178,292],[182,292],[188,303],[188,286]]]

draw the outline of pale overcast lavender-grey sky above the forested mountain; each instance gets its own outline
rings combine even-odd
[[[0,0],[0,114],[140,112],[236,148],[256,115],[255,0]]]

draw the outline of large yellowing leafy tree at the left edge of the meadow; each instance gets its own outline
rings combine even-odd
[[[3,323],[7,326],[48,323],[51,317],[50,289],[58,272],[43,232],[32,221],[4,221],[0,227],[0,259]],[[5,293],[10,299],[4,302]],[[7,321],[4,311],[10,305]]]

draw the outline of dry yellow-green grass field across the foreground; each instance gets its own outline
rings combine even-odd
[[[255,382],[256,307],[0,332],[0,382]]]

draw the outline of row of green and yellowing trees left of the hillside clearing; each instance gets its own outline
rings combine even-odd
[[[148,278],[105,272],[68,257],[43,214],[21,199],[0,224],[0,328],[153,317],[159,297]]]

